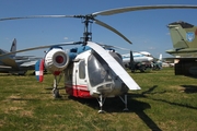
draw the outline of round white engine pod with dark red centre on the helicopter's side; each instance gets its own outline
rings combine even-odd
[[[69,63],[69,56],[61,48],[53,48],[45,56],[45,68],[54,75],[59,75]]]

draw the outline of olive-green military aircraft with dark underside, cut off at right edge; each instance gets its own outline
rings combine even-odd
[[[174,49],[166,52],[175,57],[171,58],[175,63],[175,74],[197,75],[197,26],[179,21],[170,23],[167,27]]]

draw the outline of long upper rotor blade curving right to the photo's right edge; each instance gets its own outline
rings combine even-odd
[[[197,5],[181,5],[181,4],[172,4],[172,5],[143,5],[143,7],[126,7],[118,8],[112,10],[105,10],[92,13],[92,15],[113,15],[117,13],[124,13],[129,11],[140,11],[140,10],[153,10],[153,9],[197,9]]]

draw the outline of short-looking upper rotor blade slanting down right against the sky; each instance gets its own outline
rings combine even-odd
[[[103,26],[103,27],[106,27],[106,28],[108,28],[109,31],[116,33],[116,34],[119,35],[121,38],[124,38],[126,41],[128,41],[129,44],[132,44],[127,37],[125,37],[121,33],[119,33],[119,32],[118,32],[117,29],[115,29],[114,27],[112,27],[112,26],[109,26],[109,25],[107,25],[107,24],[105,24],[105,23],[103,23],[103,22],[101,22],[101,21],[99,21],[99,20],[96,20],[96,19],[94,19],[94,21],[95,21],[96,24],[99,24],[99,25],[101,25],[101,26]]]

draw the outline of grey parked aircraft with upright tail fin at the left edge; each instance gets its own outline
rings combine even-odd
[[[16,51],[16,39],[12,41],[10,52]],[[0,55],[9,51],[0,49]],[[27,70],[34,70],[36,61],[40,58],[33,56],[16,56],[15,53],[0,57],[0,73],[12,73],[24,75]]]

